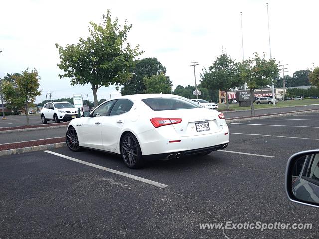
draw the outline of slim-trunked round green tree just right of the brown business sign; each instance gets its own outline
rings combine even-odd
[[[266,60],[265,55],[261,58],[257,53],[254,57],[239,64],[238,76],[246,82],[250,90],[251,115],[255,116],[254,93],[255,89],[273,84],[273,79],[278,77],[278,64],[275,59]]]

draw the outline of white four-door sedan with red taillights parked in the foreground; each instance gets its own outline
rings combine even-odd
[[[209,154],[229,142],[224,114],[181,96],[139,94],[110,99],[72,119],[66,144],[120,154],[130,168],[145,160]]]

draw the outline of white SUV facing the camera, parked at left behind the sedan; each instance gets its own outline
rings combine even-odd
[[[78,117],[78,109],[69,102],[48,102],[41,110],[42,123],[49,120],[67,122]]]

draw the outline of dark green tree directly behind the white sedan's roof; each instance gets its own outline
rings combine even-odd
[[[145,85],[143,78],[155,75],[166,74],[166,67],[156,58],[144,58],[135,60],[135,67],[131,70],[132,77],[123,84],[121,95],[143,94]]]

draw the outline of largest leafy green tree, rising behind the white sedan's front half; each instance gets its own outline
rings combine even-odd
[[[59,77],[70,77],[71,85],[91,84],[94,105],[98,105],[97,90],[111,85],[119,86],[131,78],[134,58],[142,54],[139,45],[127,43],[132,25],[125,20],[123,27],[118,18],[111,19],[110,11],[102,17],[102,24],[90,22],[89,37],[65,48],[56,44],[60,55],[58,67],[64,71]]]

